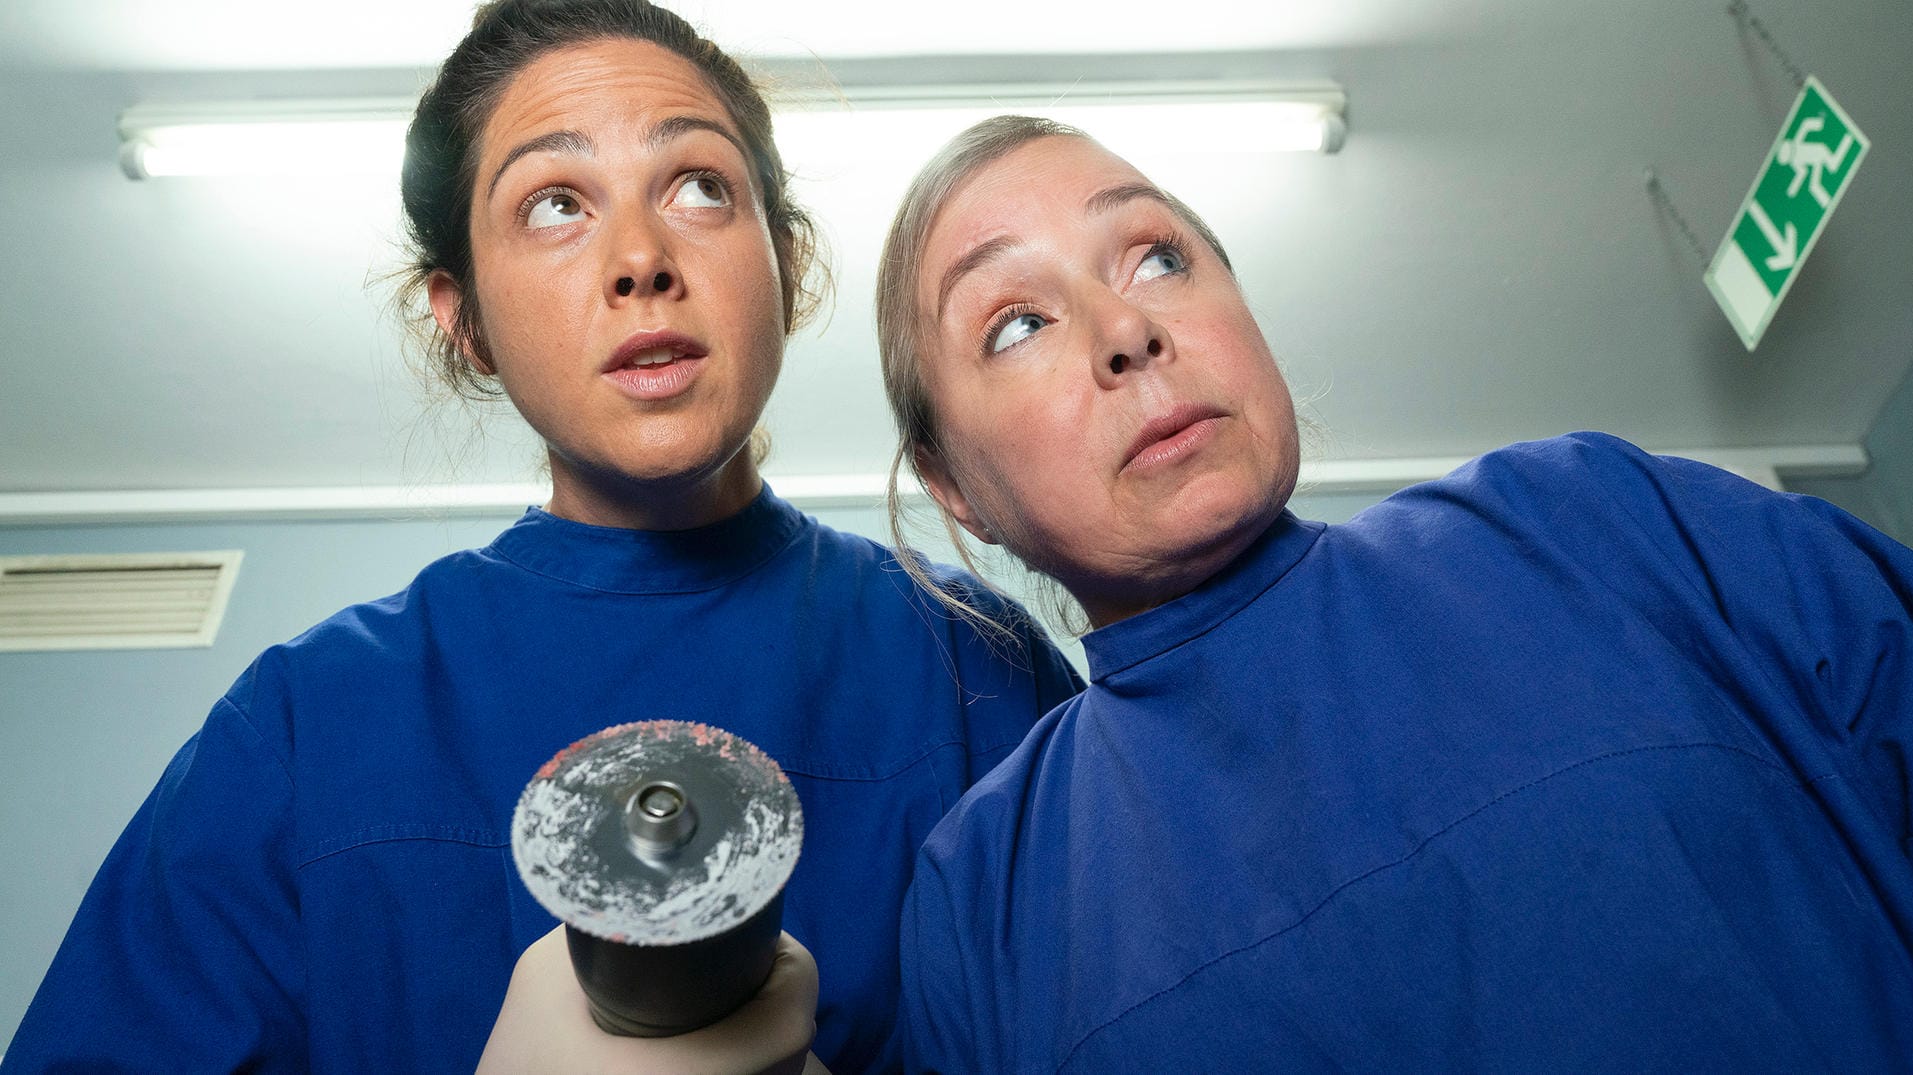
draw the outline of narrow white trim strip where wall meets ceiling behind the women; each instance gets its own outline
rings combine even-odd
[[[1867,469],[1859,444],[1775,448],[1659,450],[1733,471],[1766,486],[1779,478],[1829,478]],[[1469,457],[1305,461],[1301,488],[1308,494],[1387,494],[1439,478]],[[876,507],[884,474],[765,474],[771,488],[800,509]],[[922,495],[914,482],[905,495]],[[111,490],[0,494],[0,526],[101,526],[147,522],[297,520],[297,518],[442,518],[517,513],[551,497],[551,486],[341,486],[251,490]]]

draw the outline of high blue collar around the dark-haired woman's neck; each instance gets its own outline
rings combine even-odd
[[[744,511],[694,530],[622,530],[539,507],[490,551],[541,576],[606,593],[700,593],[737,581],[784,551],[803,515],[765,484]]]

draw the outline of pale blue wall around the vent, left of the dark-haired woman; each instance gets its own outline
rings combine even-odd
[[[0,1041],[107,847],[253,656],[507,522],[0,528],[0,555],[245,549],[209,648],[0,652]]]

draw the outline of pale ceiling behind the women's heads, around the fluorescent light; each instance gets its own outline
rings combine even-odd
[[[1852,446],[1913,363],[1903,0],[1750,4],[1873,140],[1754,354],[1701,274],[1794,84],[1718,0],[979,0],[960,21],[865,0],[677,8],[773,69],[821,61],[846,80],[1194,63],[1341,84],[1337,155],[1134,153],[1230,247],[1330,459],[1569,428],[1664,450]],[[536,478],[522,428],[423,402],[406,369],[383,281],[400,262],[394,180],[117,166],[128,105],[411,94],[467,21],[463,0],[0,6],[0,494]],[[945,134],[792,161],[838,293],[790,346],[773,474],[888,465],[872,262]],[[1649,197],[1649,168],[1697,243]]]

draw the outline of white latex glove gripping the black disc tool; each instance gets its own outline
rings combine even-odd
[[[817,1033],[817,962],[790,933],[771,977],[742,1008],[677,1037],[618,1037],[591,1021],[564,926],[524,949],[478,1075],[798,1075]],[[811,1067],[805,1067],[809,1060]]]

